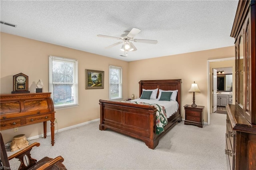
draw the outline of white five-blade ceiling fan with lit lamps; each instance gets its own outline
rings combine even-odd
[[[122,47],[121,47],[121,51],[124,51],[125,56],[121,55],[123,57],[126,57],[128,55],[128,51],[136,51],[137,48],[133,45],[132,42],[141,42],[141,43],[152,43],[152,44],[156,44],[157,40],[144,40],[144,39],[134,39],[134,36],[136,36],[141,30],[138,28],[132,28],[131,31],[124,31],[123,34],[121,34],[120,37],[112,37],[112,36],[104,36],[104,35],[97,35],[98,37],[105,37],[105,38],[114,38],[117,40],[122,40],[121,42],[117,42],[114,43],[112,45],[109,45],[105,48],[111,48],[114,47],[120,43],[123,43]]]

